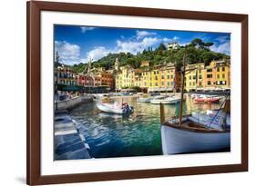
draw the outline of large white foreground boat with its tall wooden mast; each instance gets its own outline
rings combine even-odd
[[[184,93],[186,54],[183,57],[181,99]],[[230,149],[230,100],[226,99],[220,110],[208,113],[182,115],[165,120],[164,106],[160,104],[161,141],[164,154],[220,152]]]

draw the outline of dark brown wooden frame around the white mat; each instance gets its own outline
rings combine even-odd
[[[53,2],[27,2],[26,66],[26,181],[27,184],[51,184],[80,181],[109,181],[191,174],[248,171],[248,15],[192,12],[181,10],[84,5]],[[241,164],[169,168],[138,171],[108,171],[42,176],[40,171],[40,13],[61,11],[102,15],[137,15],[189,20],[241,23]]]

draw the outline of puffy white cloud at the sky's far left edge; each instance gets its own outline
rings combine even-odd
[[[55,54],[56,51],[60,56],[60,63],[77,64],[80,60],[80,46],[77,44],[69,44],[66,41],[55,41]]]

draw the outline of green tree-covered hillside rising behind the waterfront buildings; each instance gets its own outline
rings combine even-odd
[[[185,46],[179,46],[177,49],[167,50],[165,44],[159,44],[159,47],[153,50],[151,47],[138,54],[119,53],[108,54],[105,57],[92,63],[93,67],[104,67],[106,70],[113,68],[116,58],[120,65],[131,65],[138,68],[142,61],[149,61],[150,66],[164,63],[175,63],[178,66],[182,63],[183,54],[186,50],[189,59],[189,64],[204,63],[210,64],[212,60],[229,59],[227,54],[216,53],[210,50],[213,43],[205,43],[201,39],[196,38]],[[81,73],[87,64],[75,64],[72,69],[75,73]]]

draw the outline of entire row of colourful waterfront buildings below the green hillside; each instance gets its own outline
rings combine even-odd
[[[179,92],[181,87],[180,70],[175,64],[149,66],[148,61],[141,62],[138,69],[129,65],[115,69],[91,69],[89,73],[73,73],[67,66],[57,68],[58,84],[82,85],[84,87],[104,86],[109,91],[118,91],[139,87],[144,93]],[[230,62],[213,61],[209,65],[188,64],[185,73],[187,92],[230,88]]]

